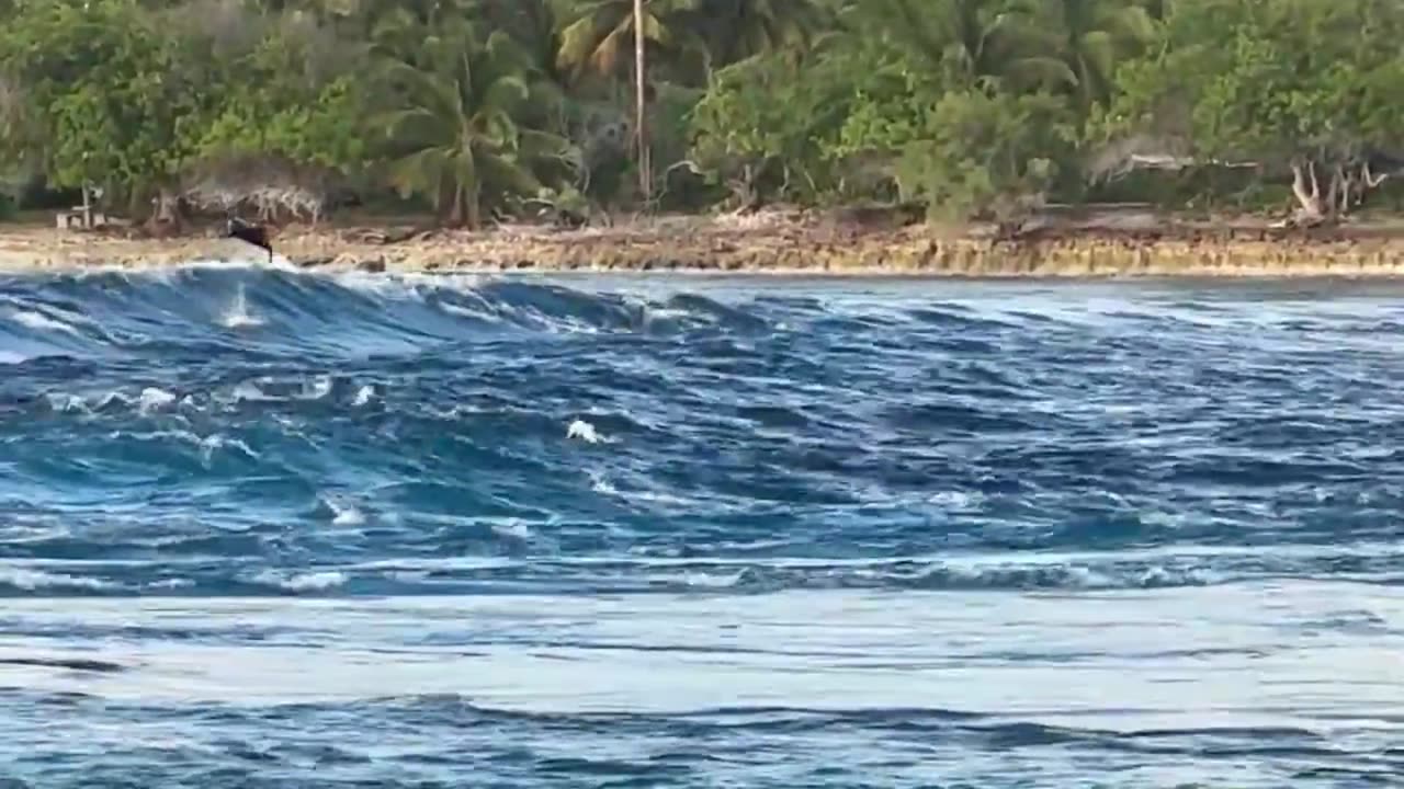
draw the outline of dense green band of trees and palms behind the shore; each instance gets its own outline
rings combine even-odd
[[[0,0],[0,177],[153,226],[399,201],[466,226],[1091,199],[1323,220],[1404,180],[1398,0],[640,6]]]

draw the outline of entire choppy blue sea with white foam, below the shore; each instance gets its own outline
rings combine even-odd
[[[1380,284],[0,275],[0,785],[1390,785],[1401,329]]]

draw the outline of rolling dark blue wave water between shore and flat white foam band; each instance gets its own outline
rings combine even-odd
[[[0,594],[1396,580],[1389,302],[608,282],[0,278]]]

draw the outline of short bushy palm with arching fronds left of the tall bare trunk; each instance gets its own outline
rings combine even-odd
[[[402,195],[425,195],[449,225],[477,227],[490,199],[538,192],[541,173],[573,166],[569,142],[531,128],[531,65],[508,34],[484,41],[463,21],[421,52],[420,63],[382,70],[399,105],[378,125],[396,146],[388,173]]]

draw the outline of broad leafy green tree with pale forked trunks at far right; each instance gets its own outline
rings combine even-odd
[[[1390,0],[1177,3],[1151,55],[1119,74],[1102,128],[1290,170],[1306,212],[1335,212],[1372,153],[1404,150],[1400,41],[1404,6]]]

